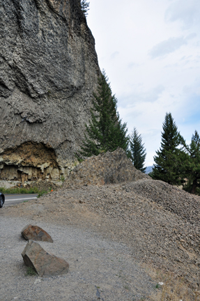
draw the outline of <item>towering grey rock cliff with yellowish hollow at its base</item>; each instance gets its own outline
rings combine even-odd
[[[0,178],[67,175],[100,70],[79,0],[1,0]]]

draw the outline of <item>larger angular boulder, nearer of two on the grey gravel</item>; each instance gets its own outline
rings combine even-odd
[[[69,270],[67,261],[49,254],[33,240],[27,242],[22,257],[25,265],[34,268],[40,277],[44,275],[63,275]]]

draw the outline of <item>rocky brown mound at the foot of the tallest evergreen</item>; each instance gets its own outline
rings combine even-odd
[[[77,165],[63,183],[63,187],[105,185],[150,178],[136,169],[122,148],[114,152],[92,156]]]

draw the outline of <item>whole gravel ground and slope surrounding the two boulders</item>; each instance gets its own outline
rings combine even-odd
[[[5,229],[1,276],[8,279],[7,287],[18,289],[20,301],[142,300],[155,286],[141,269],[145,263],[183,277],[192,290],[199,291],[199,213],[199,196],[148,179],[51,192],[0,210],[1,229]],[[54,239],[52,253],[70,263],[68,275],[44,280],[24,277],[19,254],[25,242],[20,231],[28,223],[49,232]],[[13,300],[13,291],[9,295],[6,286],[1,285],[0,295],[3,292],[5,300]],[[94,295],[98,292],[100,297]],[[199,296],[194,300],[199,301]]]

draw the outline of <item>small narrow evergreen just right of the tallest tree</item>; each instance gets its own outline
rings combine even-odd
[[[137,129],[134,128],[130,136],[130,158],[136,169],[145,172],[144,161],[146,158],[146,149],[142,144],[141,134],[138,134]]]

